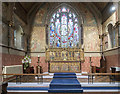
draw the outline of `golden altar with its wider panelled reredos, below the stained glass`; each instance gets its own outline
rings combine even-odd
[[[84,50],[81,48],[46,48],[49,72],[81,72]]]

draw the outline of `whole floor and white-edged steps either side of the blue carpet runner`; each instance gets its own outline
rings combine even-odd
[[[83,93],[82,94],[119,94],[120,82],[110,82],[109,76],[95,76],[93,77],[94,83],[88,83],[88,76],[77,73],[77,79],[80,82]],[[16,77],[9,79],[7,94],[47,94],[50,82],[53,79],[53,73],[49,73],[47,76],[43,76],[41,79],[38,76],[22,76],[21,80]],[[8,79],[4,79],[8,80]],[[35,90],[38,88],[38,90]],[[53,93],[49,93],[53,94]],[[62,94],[62,93],[54,93]],[[71,94],[71,93],[64,93]],[[75,93],[72,93],[75,94]]]

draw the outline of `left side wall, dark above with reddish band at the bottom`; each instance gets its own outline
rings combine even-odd
[[[26,16],[23,11],[21,11],[17,6],[16,13],[14,15],[15,25],[21,25],[26,28],[25,20],[21,19],[19,15]],[[13,3],[2,3],[2,34],[0,37],[2,41],[0,42],[0,54],[2,55],[2,66],[11,66],[11,65],[22,65],[22,59],[25,56],[26,50],[26,39],[24,49],[21,48],[21,41],[17,41],[17,46],[14,45],[14,26],[9,26],[9,21],[13,20],[11,17],[13,15]],[[17,13],[19,12],[19,14]],[[24,17],[25,19],[25,17]],[[24,30],[25,31],[25,30]],[[26,32],[26,31],[25,31]],[[19,34],[21,35],[21,34]],[[19,36],[17,36],[18,38]],[[20,40],[20,39],[19,39]]]

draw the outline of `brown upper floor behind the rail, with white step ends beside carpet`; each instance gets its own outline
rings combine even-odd
[[[16,78],[10,78],[9,79],[4,79],[4,81],[9,80],[10,82],[16,82]],[[38,76],[22,76],[21,77],[21,82],[50,82],[53,79],[53,74],[47,75],[47,76],[43,76],[43,79],[41,80],[41,78]],[[83,75],[77,75],[77,79],[79,82],[88,82],[88,76],[83,76]],[[20,79],[17,79],[18,82],[20,81]],[[93,77],[93,81],[94,82],[110,82],[110,78],[109,76],[95,76]],[[118,82],[118,81],[117,81]]]

